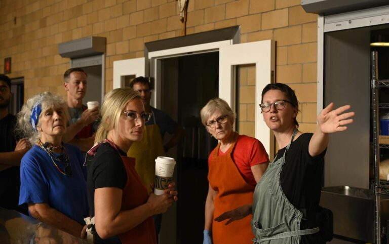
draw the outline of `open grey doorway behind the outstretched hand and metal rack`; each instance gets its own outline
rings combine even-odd
[[[380,57],[378,60],[381,68],[378,77],[380,79],[389,77],[387,48],[371,47],[370,42],[375,35],[387,31],[388,28],[389,24],[375,25],[324,34],[324,107],[330,102],[334,102],[335,105],[352,104],[353,111],[358,114],[358,119],[355,119],[353,126],[347,131],[341,135],[330,136],[331,143],[326,153],[324,186],[345,185],[369,189],[373,175],[373,149],[370,144],[372,140],[371,51],[378,51]],[[389,93],[384,89],[381,91],[381,103],[388,103]],[[381,111],[388,112],[385,109]],[[349,145],[348,142],[351,141],[358,143]]]

